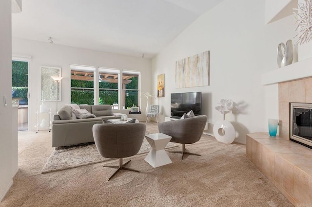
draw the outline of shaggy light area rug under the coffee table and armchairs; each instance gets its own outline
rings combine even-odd
[[[176,144],[169,142],[165,149],[177,147]],[[148,153],[151,149],[150,144],[144,138],[142,146],[137,154]],[[48,158],[41,173],[51,173],[83,165],[91,165],[99,162],[112,160],[102,157],[97,150],[94,142],[75,145],[72,147],[57,147]]]

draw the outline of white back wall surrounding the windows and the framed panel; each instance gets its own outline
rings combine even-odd
[[[141,91],[151,92],[151,60],[137,58],[125,55],[118,55],[107,52],[98,52],[85,50],[58,44],[44,43],[26,39],[12,38],[12,52],[19,55],[30,55],[31,62],[31,129],[34,130],[35,113],[39,109],[40,101],[40,67],[60,67],[62,68],[61,81],[61,102],[58,108],[64,104],[70,104],[70,64],[105,67],[114,69],[137,70],[141,72]],[[45,102],[56,113],[55,102]],[[142,98],[142,115],[138,116],[139,120],[145,120],[146,99]],[[129,110],[128,110],[129,111]],[[128,114],[127,110],[116,111]],[[115,112],[115,111],[114,111]]]

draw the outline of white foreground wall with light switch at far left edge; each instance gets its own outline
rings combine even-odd
[[[12,128],[11,0],[0,1],[0,201],[18,170],[17,128]],[[3,97],[7,97],[4,106]],[[16,111],[16,108],[15,108]],[[17,120],[17,119],[15,119]],[[13,133],[12,133],[13,132]]]

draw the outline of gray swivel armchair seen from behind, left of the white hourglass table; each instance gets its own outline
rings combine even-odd
[[[122,123],[122,124],[95,124],[92,131],[96,147],[101,156],[107,158],[119,158],[119,166],[103,166],[116,168],[108,180],[116,175],[119,170],[135,171],[125,168],[131,160],[122,163],[123,157],[136,155],[140,150],[145,135],[146,125],[144,123]]]

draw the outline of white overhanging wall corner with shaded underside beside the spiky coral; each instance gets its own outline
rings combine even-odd
[[[265,23],[292,15],[293,8],[298,8],[298,0],[265,0]]]

